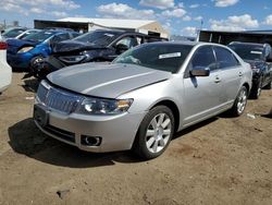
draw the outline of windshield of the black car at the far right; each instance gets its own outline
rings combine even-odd
[[[262,46],[258,45],[228,45],[244,60],[260,60],[262,58]]]

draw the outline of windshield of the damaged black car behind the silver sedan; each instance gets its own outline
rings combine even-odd
[[[111,32],[90,32],[74,38],[83,43],[90,43],[97,46],[108,46],[115,39],[116,34]]]

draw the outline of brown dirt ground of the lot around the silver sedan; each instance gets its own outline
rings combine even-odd
[[[32,120],[37,83],[23,75],[0,96],[0,204],[272,204],[272,91],[240,118],[197,124],[138,161],[47,137]]]

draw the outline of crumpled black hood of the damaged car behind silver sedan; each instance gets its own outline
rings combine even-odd
[[[90,43],[83,43],[79,40],[64,40],[58,43],[53,46],[53,52],[74,52],[74,51],[83,51],[83,50],[91,50],[104,48],[98,45],[94,45]]]

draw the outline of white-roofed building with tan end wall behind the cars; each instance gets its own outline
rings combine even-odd
[[[35,20],[35,28],[69,27],[78,32],[90,32],[97,28],[124,29],[169,38],[169,32],[157,21],[66,17],[57,21]]]

